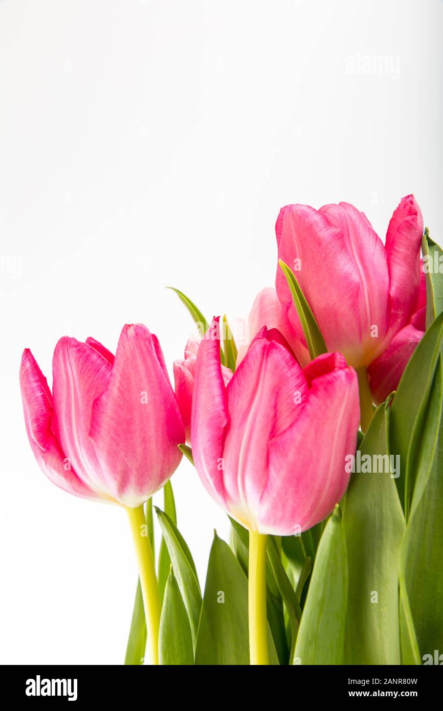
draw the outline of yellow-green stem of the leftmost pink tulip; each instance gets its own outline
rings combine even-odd
[[[144,508],[143,506],[138,508],[128,507],[126,510],[134,540],[135,555],[139,565],[148,644],[151,650],[151,664],[158,664],[161,603]]]

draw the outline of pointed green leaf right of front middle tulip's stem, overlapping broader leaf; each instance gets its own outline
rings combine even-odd
[[[301,616],[294,663],[343,663],[347,597],[346,540],[340,508],[336,506],[317,550]]]

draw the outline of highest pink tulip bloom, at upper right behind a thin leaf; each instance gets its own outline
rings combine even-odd
[[[414,196],[402,198],[385,245],[353,205],[287,205],[275,226],[278,256],[294,275],[328,351],[343,353],[358,371],[362,416],[394,390],[423,335],[425,279],[420,268],[423,220]],[[287,281],[277,267],[276,289],[309,360]],[[370,391],[369,392],[369,387]],[[363,422],[362,422],[363,424]]]

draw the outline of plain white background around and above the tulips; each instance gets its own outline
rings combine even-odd
[[[142,321],[171,368],[193,328],[164,287],[246,316],[287,203],[352,202],[383,236],[413,192],[441,242],[442,20],[440,0],[0,1],[3,663],[122,663],[137,580],[124,512],[33,459],[23,348],[50,382],[60,336],[114,349]],[[203,585],[227,520],[188,462],[172,481]]]

